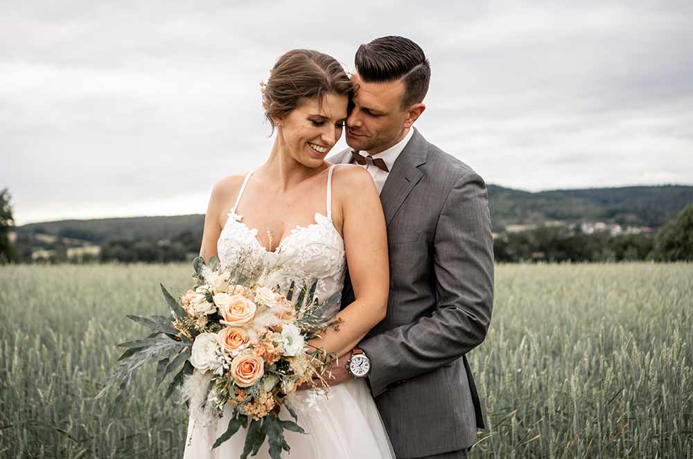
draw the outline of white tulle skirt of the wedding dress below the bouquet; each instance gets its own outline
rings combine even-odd
[[[288,397],[298,416],[298,424],[308,433],[284,431],[291,451],[282,458],[296,459],[394,459],[392,445],[371,392],[362,379],[349,381],[330,389],[328,399],[318,398],[317,408],[308,406],[312,390],[302,390]],[[231,406],[224,417],[208,426],[188,422],[184,459],[236,459],[243,453],[245,431],[236,432],[216,449],[212,445],[227,429]],[[280,417],[290,419],[286,408]],[[267,440],[256,458],[270,459]]]

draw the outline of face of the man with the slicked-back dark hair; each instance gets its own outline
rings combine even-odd
[[[358,91],[349,105],[347,143],[354,150],[378,154],[403,135],[409,116],[402,108],[404,84],[401,80],[364,82],[358,73],[351,80],[358,84]]]

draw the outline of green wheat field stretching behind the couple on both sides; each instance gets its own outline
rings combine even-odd
[[[146,333],[125,314],[165,312],[159,282],[191,273],[0,267],[0,458],[182,457],[186,409],[152,366],[118,415],[94,396]],[[693,458],[693,264],[500,265],[495,286],[471,458]]]

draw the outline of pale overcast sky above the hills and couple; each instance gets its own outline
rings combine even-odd
[[[279,55],[351,71],[383,35],[431,62],[416,127],[489,183],[693,184],[690,1],[234,3],[0,3],[0,188],[18,225],[204,213],[216,180],[270,150],[259,82]]]

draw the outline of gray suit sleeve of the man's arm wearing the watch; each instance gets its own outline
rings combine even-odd
[[[362,341],[374,397],[446,365],[486,338],[493,307],[493,240],[486,185],[471,172],[450,190],[433,240],[437,309]]]

